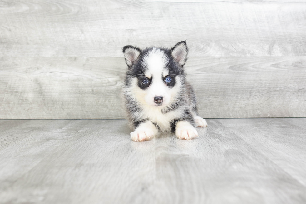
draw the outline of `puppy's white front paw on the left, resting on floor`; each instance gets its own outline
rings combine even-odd
[[[143,141],[143,140],[151,140],[152,137],[157,135],[158,129],[155,125],[147,120],[145,122],[141,122],[138,127],[131,132],[131,139],[133,141]]]

